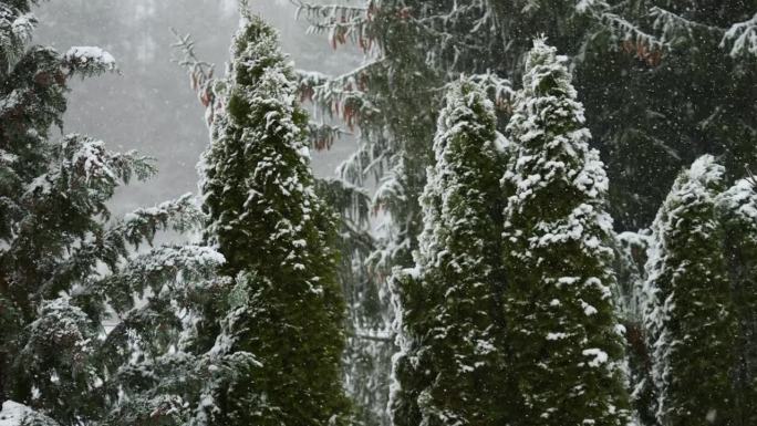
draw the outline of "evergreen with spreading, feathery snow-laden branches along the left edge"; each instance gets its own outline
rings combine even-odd
[[[155,168],[86,136],[51,137],[69,81],[115,62],[98,48],[28,45],[32,3],[0,2],[0,401],[81,425],[128,398],[124,371],[170,351],[182,329],[174,290],[222,258],[195,246],[133,256],[203,216],[185,196],[111,218],[116,187]]]

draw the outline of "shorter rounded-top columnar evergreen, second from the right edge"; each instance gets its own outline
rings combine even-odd
[[[663,426],[733,424],[737,324],[717,216],[724,174],[712,156],[697,159],[652,226],[645,325]]]

